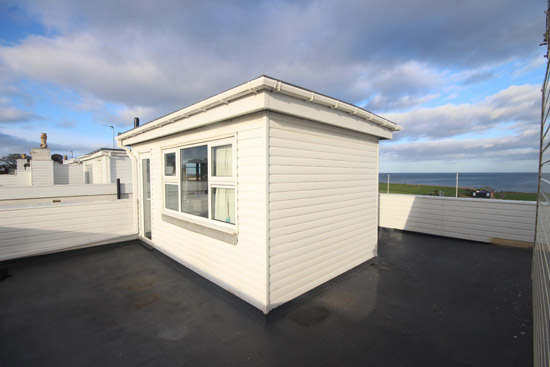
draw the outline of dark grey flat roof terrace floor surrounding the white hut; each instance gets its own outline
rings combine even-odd
[[[381,229],[264,316],[137,241],[0,263],[7,366],[529,366],[531,250]]]

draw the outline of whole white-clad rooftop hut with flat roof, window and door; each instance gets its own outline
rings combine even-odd
[[[397,124],[261,76],[118,136],[143,241],[263,312],[377,254]]]

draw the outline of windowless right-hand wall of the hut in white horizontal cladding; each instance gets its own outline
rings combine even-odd
[[[376,256],[378,138],[269,114],[270,308]]]

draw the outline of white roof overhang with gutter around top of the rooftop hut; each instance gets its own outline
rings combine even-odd
[[[117,140],[121,145],[133,145],[259,111],[275,111],[381,139],[391,139],[393,132],[401,129],[394,122],[357,106],[261,76],[129,130]]]

